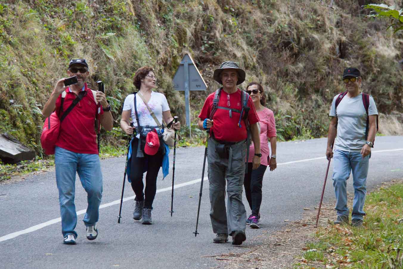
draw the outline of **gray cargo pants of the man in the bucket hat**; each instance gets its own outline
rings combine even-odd
[[[232,235],[234,231],[245,231],[246,228],[246,210],[242,203],[246,143],[231,145],[232,158],[230,156],[229,159],[218,156],[216,144],[218,142],[214,139],[208,140],[210,219],[215,234]],[[227,209],[225,209],[225,183],[228,194]]]

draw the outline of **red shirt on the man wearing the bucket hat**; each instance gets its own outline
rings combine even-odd
[[[200,111],[199,118],[204,120],[206,118],[210,118],[210,112],[213,108],[213,100],[214,94],[210,94],[206,101],[204,102],[202,111]],[[228,96],[230,106],[228,106]],[[227,94],[224,90],[221,90],[220,100],[218,101],[218,106],[230,107],[242,110],[241,103],[241,90],[237,90],[232,94]],[[254,124],[259,121],[258,113],[256,113],[255,106],[251,98],[247,102],[247,106],[250,107],[248,121],[249,124]],[[241,127],[238,126],[240,114],[236,112],[232,112],[232,117],[229,117],[229,111],[225,109],[217,108],[216,112],[213,116],[213,127],[212,131],[214,132],[214,137],[217,140],[222,140],[225,142],[238,142],[241,140],[245,140],[247,138],[247,131],[245,127],[245,121],[241,120]],[[211,131],[211,130],[210,130]],[[211,134],[211,133],[210,133]]]

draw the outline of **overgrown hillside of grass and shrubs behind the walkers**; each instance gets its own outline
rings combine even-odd
[[[73,57],[88,60],[91,88],[105,82],[116,127],[102,131],[106,151],[125,148],[120,112],[143,65],[156,69],[156,90],[184,123],[184,94],[171,80],[185,52],[209,87],[191,93],[193,125],[218,86],[214,69],[229,59],[246,70],[241,88],[250,81],[264,85],[279,140],[327,133],[329,105],[343,90],[340,74],[347,66],[361,69],[364,91],[381,113],[401,117],[402,35],[365,12],[356,0],[6,0],[0,4],[0,132],[46,157],[41,110]],[[203,132],[193,129],[187,140],[183,128],[180,146],[202,144]]]

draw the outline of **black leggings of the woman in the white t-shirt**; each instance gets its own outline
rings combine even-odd
[[[162,142],[161,142],[162,143]],[[152,202],[154,201],[155,194],[157,192],[157,177],[160,167],[162,165],[162,159],[164,158],[164,148],[160,147],[155,155],[147,155],[144,153],[144,158],[137,158],[137,146],[139,140],[135,138],[132,144],[132,157],[131,157],[131,188],[133,188],[136,194],[136,201],[144,201],[144,208],[152,209]],[[147,174],[145,175],[145,192],[143,193],[143,169],[147,168]],[[145,197],[144,197],[145,196]]]

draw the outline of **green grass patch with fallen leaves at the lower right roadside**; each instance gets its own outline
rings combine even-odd
[[[296,268],[402,268],[403,184],[369,194],[363,227],[319,227]]]

